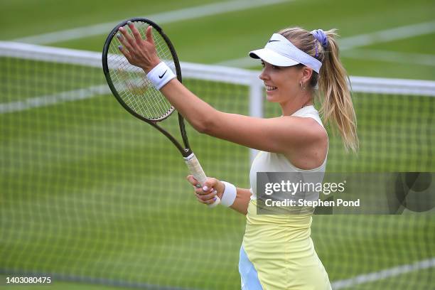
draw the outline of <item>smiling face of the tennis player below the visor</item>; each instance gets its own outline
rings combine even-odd
[[[267,100],[280,104],[289,102],[301,92],[299,66],[279,67],[262,60],[263,70],[259,78],[266,87]]]

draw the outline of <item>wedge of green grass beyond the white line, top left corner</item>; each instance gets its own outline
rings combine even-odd
[[[158,14],[189,6],[213,3],[210,0],[140,1],[116,0],[59,2],[55,0],[3,0],[0,38],[14,39],[77,28],[97,23],[120,21],[133,16]],[[31,25],[29,25],[31,23]],[[107,31],[107,34],[109,31]],[[102,46],[102,45],[101,45]]]

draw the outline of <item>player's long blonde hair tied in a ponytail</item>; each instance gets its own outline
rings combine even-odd
[[[320,75],[313,71],[309,85],[313,89],[318,83],[321,114],[326,123],[335,125],[343,139],[345,149],[358,151],[358,136],[355,110],[348,87],[348,74],[338,58],[339,50],[335,29],[325,31],[328,45],[323,48],[314,36],[303,28],[286,28],[278,33],[297,48],[321,61]],[[303,66],[303,65],[301,65]],[[350,84],[350,82],[349,82]]]

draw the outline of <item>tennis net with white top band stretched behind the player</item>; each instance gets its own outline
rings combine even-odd
[[[114,100],[99,54],[47,50],[1,49],[1,273],[239,288],[245,217],[197,203],[176,148]],[[253,112],[252,95],[262,89],[251,73],[181,68],[184,84],[213,107]],[[377,80],[353,80],[362,88],[353,95],[360,154],[345,154],[330,134],[327,170],[435,171],[433,83],[411,82],[404,94],[400,85],[377,92]],[[262,111],[280,114],[273,104]],[[178,131],[176,118],[165,123]],[[208,176],[249,187],[248,149],[187,130]],[[311,233],[333,289],[430,289],[434,229],[433,213],[315,215]]]

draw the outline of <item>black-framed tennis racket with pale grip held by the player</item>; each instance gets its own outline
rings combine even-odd
[[[192,149],[190,149],[183,117],[178,113],[178,124],[183,139],[183,145],[181,145],[168,131],[159,126],[159,122],[168,118],[176,109],[159,90],[156,90],[146,77],[145,72],[141,68],[131,65],[119,51],[118,46],[122,45],[122,43],[116,35],[120,27],[124,27],[129,31],[128,21],[134,24],[142,38],[146,38],[146,28],[153,27],[157,55],[176,74],[177,79],[180,82],[182,81],[176,50],[160,26],[146,18],[131,18],[113,28],[104,43],[102,66],[107,84],[114,97],[127,112],[161,131],[176,146],[183,156],[190,173],[203,186],[207,176],[205,176],[203,168],[196,159],[195,154],[193,154]],[[131,33],[131,31],[129,32]],[[220,198],[218,196],[216,198],[215,203],[208,205],[210,208],[220,203]]]

